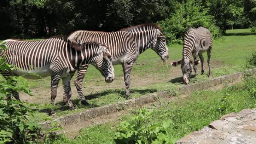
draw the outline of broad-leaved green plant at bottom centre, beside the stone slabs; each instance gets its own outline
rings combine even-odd
[[[174,144],[176,138],[168,133],[172,127],[172,120],[159,123],[150,123],[153,110],[146,108],[137,111],[131,121],[124,121],[118,127],[115,134],[116,144]]]

